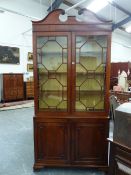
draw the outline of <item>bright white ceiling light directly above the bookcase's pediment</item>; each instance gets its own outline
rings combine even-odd
[[[91,10],[94,13],[97,13],[98,11],[106,7],[109,2],[112,2],[112,0],[94,0],[87,6],[87,9]]]

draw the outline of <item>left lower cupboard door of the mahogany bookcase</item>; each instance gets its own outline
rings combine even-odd
[[[57,165],[68,163],[68,127],[64,122],[42,122],[35,127],[36,160]]]

